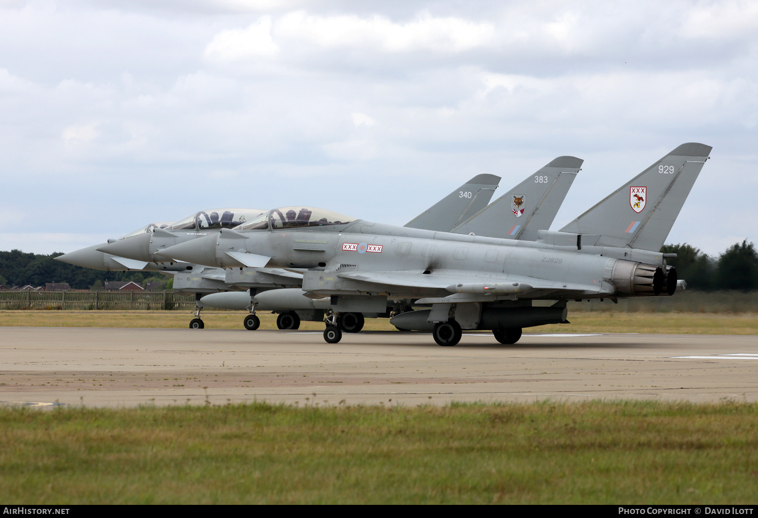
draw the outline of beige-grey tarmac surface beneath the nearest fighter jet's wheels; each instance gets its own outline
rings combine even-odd
[[[450,401],[758,400],[758,335],[0,328],[0,401],[139,404],[447,404]]]

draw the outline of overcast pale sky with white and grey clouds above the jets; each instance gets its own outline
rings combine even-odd
[[[758,240],[756,58],[754,0],[0,0],[0,250],[222,207],[402,225],[572,154],[559,229],[703,142],[667,242],[718,254]]]

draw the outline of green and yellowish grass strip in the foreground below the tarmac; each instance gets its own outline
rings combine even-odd
[[[29,504],[758,501],[758,404],[0,409]]]

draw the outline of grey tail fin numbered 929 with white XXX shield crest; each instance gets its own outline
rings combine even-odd
[[[678,146],[561,232],[599,234],[599,246],[659,251],[711,149],[697,142]]]

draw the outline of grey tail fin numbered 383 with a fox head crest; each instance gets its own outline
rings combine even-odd
[[[453,229],[456,234],[535,241],[553,223],[584,161],[558,157]]]

